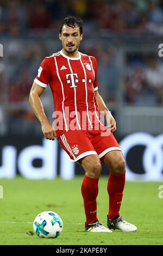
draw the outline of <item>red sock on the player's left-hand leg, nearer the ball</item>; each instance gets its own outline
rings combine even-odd
[[[97,202],[98,180],[84,176],[82,183],[82,196],[84,200],[84,209],[86,215],[86,226],[96,222],[97,219]]]

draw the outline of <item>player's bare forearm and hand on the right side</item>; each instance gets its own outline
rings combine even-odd
[[[97,102],[97,106],[98,106],[99,111],[104,113],[106,123],[108,124],[107,126],[109,126],[109,124],[110,124],[111,132],[116,131],[116,129],[117,129],[116,128],[116,120],[112,116],[109,109],[106,107],[106,105],[103,101],[103,98],[98,93],[98,90],[95,90],[95,97],[96,97],[96,102]]]

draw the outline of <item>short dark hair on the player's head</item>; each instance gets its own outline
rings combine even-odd
[[[59,33],[62,33],[62,27],[66,25],[67,27],[75,28],[79,27],[80,28],[80,35],[83,34],[83,20],[80,19],[79,17],[75,16],[67,16],[64,20],[62,20],[60,28],[59,28]]]

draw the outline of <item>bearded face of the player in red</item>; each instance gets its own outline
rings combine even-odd
[[[83,35],[80,35],[79,27],[62,27],[62,32],[59,34],[59,39],[62,42],[62,46],[67,53],[76,52],[79,48],[80,41]]]

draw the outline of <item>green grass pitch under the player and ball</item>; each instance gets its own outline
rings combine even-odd
[[[27,180],[20,176],[0,180],[0,245],[163,245],[163,182],[126,182],[121,215],[137,226],[134,233],[85,233],[82,176],[66,181]],[[107,177],[99,180],[98,218],[106,225],[108,214]],[[40,239],[33,234],[33,220],[42,211],[57,212],[64,229],[57,239]]]

